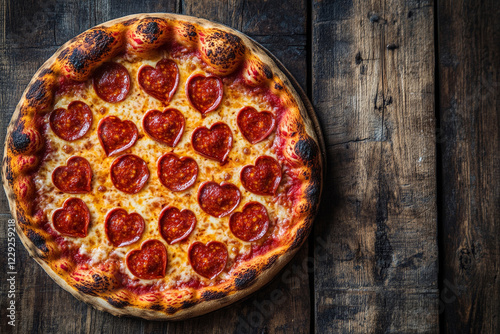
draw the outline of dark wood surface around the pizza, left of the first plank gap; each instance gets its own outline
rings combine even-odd
[[[243,30],[273,52],[306,87],[306,5],[294,1],[294,21],[277,14],[270,17],[265,27],[259,26],[263,15],[279,13],[282,9],[269,7],[265,1],[230,4],[237,12],[209,1],[56,1],[45,3],[6,1],[0,13],[5,28],[2,39],[0,80],[2,138],[12,112],[23,90],[38,67],[52,55],[58,46],[84,30],[113,18],[141,12],[181,12],[225,23]],[[280,5],[283,7],[283,4]],[[207,10],[210,8],[210,10]],[[268,12],[266,12],[266,10]],[[217,14],[218,13],[218,14]],[[0,27],[1,28],[1,27]],[[1,195],[2,222],[10,217],[5,195]],[[6,245],[6,230],[0,231],[0,244]],[[302,263],[307,261],[307,245],[292,263],[267,287],[244,302],[209,315],[185,322],[151,322],[140,319],[117,318],[97,311],[73,298],[57,286],[31,260],[17,239],[16,285],[18,293],[16,332],[48,333],[305,333],[310,327],[309,273]],[[0,261],[1,268],[6,263]],[[4,275],[2,275],[2,278]],[[2,320],[8,300],[1,290]],[[11,331],[0,320],[0,332]]]

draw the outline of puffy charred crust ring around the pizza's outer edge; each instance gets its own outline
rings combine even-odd
[[[32,212],[36,189],[33,171],[40,164],[44,138],[37,115],[51,111],[59,78],[87,80],[102,63],[125,54],[146,57],[170,40],[198,48],[214,74],[241,70],[249,86],[263,86],[280,98],[285,112],[277,135],[285,141],[283,157],[302,189],[294,206],[288,239],[272,251],[241,263],[231,278],[214,287],[136,295],[122,288],[112,268],[80,270],[61,257],[53,238]],[[322,186],[318,139],[301,98],[288,78],[255,42],[228,27],[174,14],[139,14],[106,22],[63,45],[35,74],[12,116],[3,161],[4,188],[21,241],[31,256],[64,289],[114,315],[146,319],[184,319],[228,305],[266,284],[293,257],[309,234]],[[64,268],[64,270],[62,269]],[[175,295],[174,295],[175,294]],[[177,295],[181,298],[174,298]]]

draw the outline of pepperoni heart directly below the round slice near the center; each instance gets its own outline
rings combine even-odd
[[[144,219],[137,212],[127,214],[121,208],[108,212],[104,223],[108,240],[115,247],[133,244],[141,238],[144,231]]]

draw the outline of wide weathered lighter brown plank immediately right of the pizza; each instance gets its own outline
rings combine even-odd
[[[314,1],[318,333],[438,330],[432,1]]]

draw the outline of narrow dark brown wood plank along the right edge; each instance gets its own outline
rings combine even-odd
[[[500,332],[500,2],[438,2],[446,333]]]

